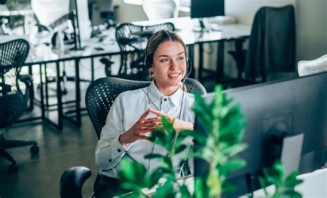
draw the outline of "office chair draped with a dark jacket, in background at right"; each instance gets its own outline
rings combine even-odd
[[[229,52],[237,63],[239,79],[243,73],[252,83],[257,79],[265,82],[274,72],[295,74],[295,13],[292,5],[260,8],[255,14],[247,51],[242,49],[245,39],[237,39],[236,50]]]

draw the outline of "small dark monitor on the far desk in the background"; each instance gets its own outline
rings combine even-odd
[[[206,30],[203,18],[225,15],[225,0],[191,0],[190,17],[199,19],[201,31]]]

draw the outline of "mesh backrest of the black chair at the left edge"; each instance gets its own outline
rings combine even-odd
[[[26,96],[19,88],[18,79],[29,50],[29,43],[24,39],[0,44],[0,128],[16,122],[26,108]]]

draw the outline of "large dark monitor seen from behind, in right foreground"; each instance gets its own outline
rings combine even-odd
[[[304,134],[303,146],[297,148],[301,150],[299,173],[312,172],[326,163],[323,157],[327,135],[326,85],[327,72],[324,72],[224,92],[227,98],[234,98],[233,102],[241,105],[247,123],[242,142],[248,144],[248,148],[239,154],[247,165],[232,172],[228,179],[238,190],[235,195],[228,196],[244,195],[259,188],[256,174],[268,165],[271,152],[267,140],[275,126],[284,126],[281,132],[288,136]],[[213,94],[208,94],[205,99],[211,102],[213,97]],[[204,132],[201,126],[196,126],[197,130]],[[206,167],[205,161],[195,159],[196,176],[205,178]],[[246,176],[254,178],[252,184]]]

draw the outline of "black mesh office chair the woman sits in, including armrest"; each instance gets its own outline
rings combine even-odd
[[[101,129],[106,124],[106,119],[112,103],[116,97],[127,90],[136,90],[150,85],[150,81],[132,81],[128,79],[119,79],[114,77],[105,77],[97,79],[90,84],[88,90],[86,90],[86,110],[95,128],[98,139],[100,138]],[[206,94],[204,86],[195,79],[186,79],[186,88],[188,92],[195,93],[200,92]],[[74,192],[76,195],[81,195],[81,187],[83,183],[90,175],[88,175],[88,168],[74,167],[66,170],[61,176],[60,180],[60,196],[69,197],[70,193]],[[69,176],[69,177],[68,177]],[[99,174],[95,179],[94,188],[99,183],[101,177]],[[72,184],[75,183],[75,184]],[[66,188],[66,186],[75,186],[75,188]],[[81,197],[81,196],[80,196]]]

